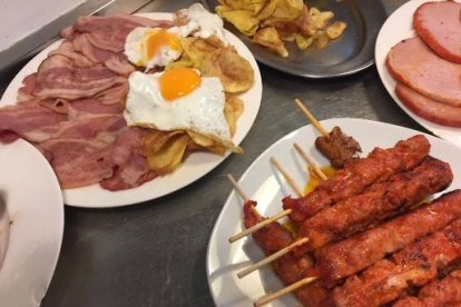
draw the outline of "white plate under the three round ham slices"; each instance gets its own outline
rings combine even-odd
[[[389,50],[391,50],[391,48],[401,40],[416,36],[412,26],[413,13],[424,2],[429,1],[412,0],[406,2],[398,10],[395,10],[384,22],[383,27],[380,30],[380,33],[377,34],[376,47],[374,50],[377,72],[380,73],[380,78],[383,81],[388,92],[392,96],[392,98],[395,100],[399,107],[401,107],[410,117],[412,117],[415,121],[418,121],[429,131],[432,131],[434,135],[461,147],[461,128],[441,126],[432,121],[429,121],[413,113],[402,103],[402,101],[399,99],[399,97],[396,97],[394,92],[395,80],[385,67],[385,59],[388,57]]]

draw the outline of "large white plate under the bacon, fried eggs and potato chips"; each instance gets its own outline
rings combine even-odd
[[[171,13],[155,12],[143,13],[140,16],[151,19],[171,19]],[[230,32],[226,31],[225,36],[228,39],[229,43],[235,46],[238,53],[249,61],[255,75],[253,87],[239,96],[244,101],[245,110],[238,119],[237,130],[234,136],[234,143],[238,145],[245,138],[252,128],[253,122],[255,121],[256,115],[259,110],[263,87],[259,69],[248,48],[246,48],[246,46]],[[3,97],[0,100],[0,106],[16,103],[17,92],[21,87],[22,79],[27,75],[37,71],[37,68],[41,61],[45,60],[47,58],[47,55],[51,50],[56,49],[60,41],[55,42],[24,66],[24,68],[14,77],[14,79],[4,91]],[[100,188],[99,185],[92,185],[78,189],[65,189],[65,202],[66,205],[76,207],[107,208],[155,199],[194,182],[217,167],[226,157],[227,155],[225,157],[222,157],[208,152],[196,152],[187,158],[185,164],[171,175],[155,178],[154,180],[134,189],[122,191],[108,191]]]

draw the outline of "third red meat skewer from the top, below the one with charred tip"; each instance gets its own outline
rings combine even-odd
[[[322,280],[333,287],[388,254],[442,229],[461,218],[460,204],[461,190],[454,190],[375,228],[321,248],[315,256]]]

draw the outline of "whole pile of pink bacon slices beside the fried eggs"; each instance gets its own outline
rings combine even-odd
[[[122,13],[80,17],[23,79],[17,105],[0,109],[0,141],[30,141],[50,161],[61,188],[99,182],[120,190],[153,179],[139,151],[146,131],[127,127],[122,116],[127,76],[135,70],[124,46],[136,27],[170,26]]]

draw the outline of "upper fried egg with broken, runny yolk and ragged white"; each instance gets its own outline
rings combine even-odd
[[[145,67],[165,67],[183,53],[180,38],[190,34],[200,38],[218,37],[225,42],[223,20],[208,12],[200,3],[195,3],[179,12],[187,23],[169,29],[138,27],[125,39],[125,55],[128,60]]]

